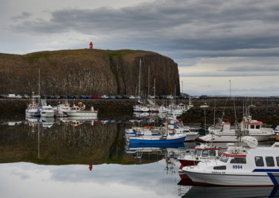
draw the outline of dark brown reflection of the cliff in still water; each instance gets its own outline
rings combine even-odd
[[[29,119],[19,125],[0,125],[0,162],[137,163],[124,152],[123,131],[132,123],[66,120],[45,123]]]

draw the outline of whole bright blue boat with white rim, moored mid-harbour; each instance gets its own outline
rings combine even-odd
[[[179,144],[183,143],[186,135],[178,135],[175,132],[167,131],[160,135],[143,135],[140,137],[127,137],[130,144]]]

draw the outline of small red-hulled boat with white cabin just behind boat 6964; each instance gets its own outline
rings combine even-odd
[[[183,167],[194,166],[197,165],[202,160],[213,160],[219,158],[220,148],[215,146],[209,146],[206,144],[202,144],[195,147],[195,153],[191,155],[185,155],[183,158],[178,158],[181,166],[179,169],[181,170]]]

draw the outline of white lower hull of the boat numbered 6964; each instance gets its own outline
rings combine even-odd
[[[278,185],[279,174],[236,175],[236,174],[208,174],[201,172],[188,172],[183,170],[189,178],[198,183],[226,186],[275,186]]]

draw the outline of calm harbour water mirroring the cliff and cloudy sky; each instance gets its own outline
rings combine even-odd
[[[123,134],[132,125],[116,120],[2,122],[1,197],[278,196],[272,187],[191,186],[181,179],[175,158],[177,147],[195,148],[196,143],[131,148]]]

